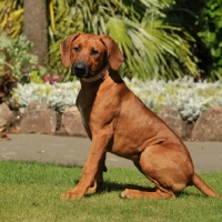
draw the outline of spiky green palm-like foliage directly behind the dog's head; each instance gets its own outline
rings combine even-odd
[[[122,75],[173,79],[200,73],[195,64],[198,59],[190,50],[193,39],[184,30],[163,23],[161,8],[164,6],[158,0],[124,1],[125,4],[117,0],[78,0],[70,1],[69,7],[64,1],[51,2],[54,4],[51,14],[56,14],[51,37],[59,34],[58,40],[61,40],[75,31],[110,34],[125,57]],[[53,57],[58,43],[52,38]],[[59,53],[56,58],[59,60]]]

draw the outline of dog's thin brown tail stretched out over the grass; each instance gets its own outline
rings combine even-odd
[[[215,193],[199,175],[195,173],[192,178],[192,184],[195,185],[202,193],[210,198],[222,198],[222,195]]]

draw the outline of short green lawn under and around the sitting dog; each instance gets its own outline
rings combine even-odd
[[[222,200],[205,198],[186,188],[169,200],[125,200],[119,193],[127,184],[148,185],[137,170],[109,169],[104,190],[80,200],[59,200],[80,179],[81,168],[0,161],[1,222],[219,222]],[[222,193],[222,173],[201,174]],[[152,185],[149,183],[149,185]]]

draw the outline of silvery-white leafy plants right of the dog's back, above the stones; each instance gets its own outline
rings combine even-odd
[[[155,113],[164,107],[172,105],[189,122],[213,104],[221,104],[222,83],[199,81],[184,77],[174,81],[125,79],[127,84]]]

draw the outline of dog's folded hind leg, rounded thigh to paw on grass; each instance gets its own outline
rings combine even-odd
[[[174,198],[192,180],[193,165],[190,157],[174,144],[157,144],[147,148],[135,167],[155,184],[154,191],[125,189],[122,198]]]

